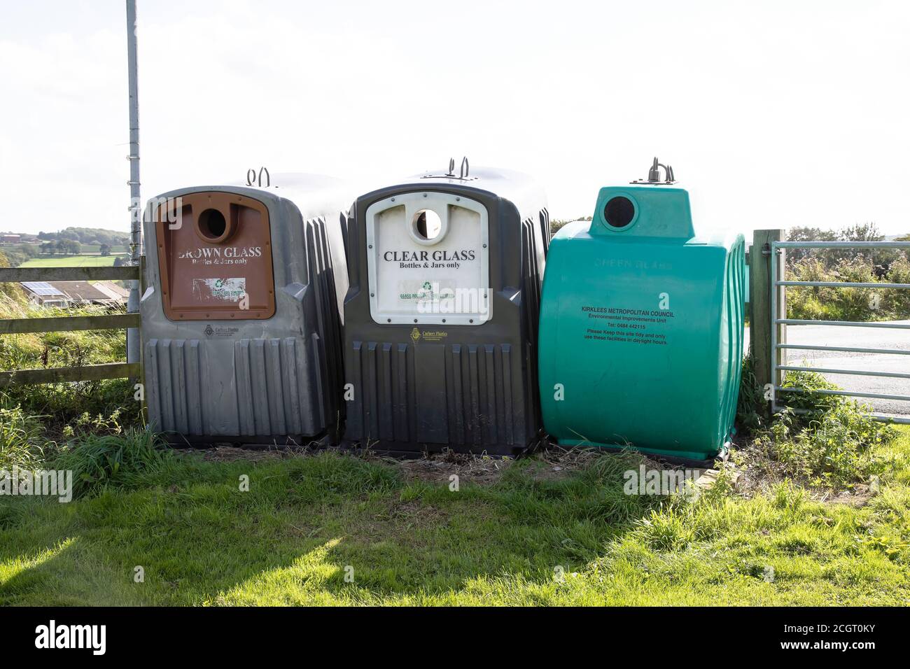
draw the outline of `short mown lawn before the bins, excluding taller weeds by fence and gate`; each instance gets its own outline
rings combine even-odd
[[[633,454],[457,492],[335,453],[182,455],[132,489],[0,498],[0,604],[907,604],[910,430],[886,448],[898,469],[842,502],[628,496]]]

